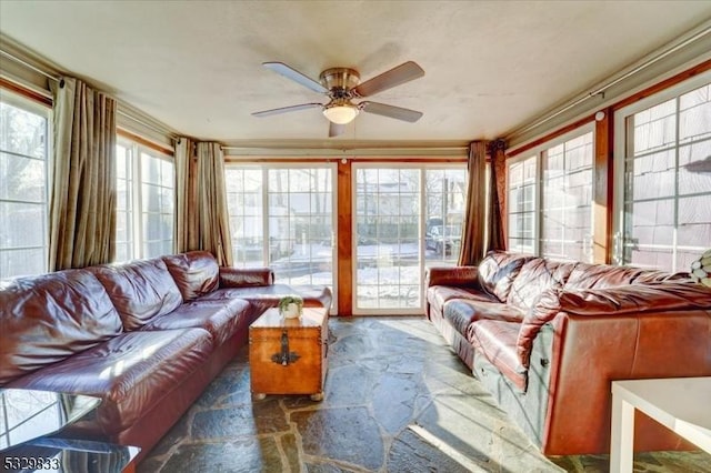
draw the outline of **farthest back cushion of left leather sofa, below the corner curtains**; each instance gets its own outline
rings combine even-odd
[[[163,256],[163,262],[186,302],[218,289],[220,268],[214,256],[207,251],[171,254]]]

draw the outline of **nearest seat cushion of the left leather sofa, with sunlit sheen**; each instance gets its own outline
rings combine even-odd
[[[61,391],[101,397],[94,422],[107,434],[137,423],[212,353],[202,329],[121,334],[61,363],[22,376],[8,388]]]

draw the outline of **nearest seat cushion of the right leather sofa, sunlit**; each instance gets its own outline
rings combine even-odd
[[[467,339],[521,392],[525,391],[527,370],[519,361],[517,339],[519,322],[480,320],[469,325]]]

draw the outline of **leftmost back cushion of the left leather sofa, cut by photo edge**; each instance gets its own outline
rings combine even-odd
[[[122,331],[101,283],[67,270],[0,283],[0,386]]]

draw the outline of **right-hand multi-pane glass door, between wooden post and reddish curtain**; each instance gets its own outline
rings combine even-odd
[[[354,165],[354,312],[421,313],[427,265],[459,258],[467,170]]]

